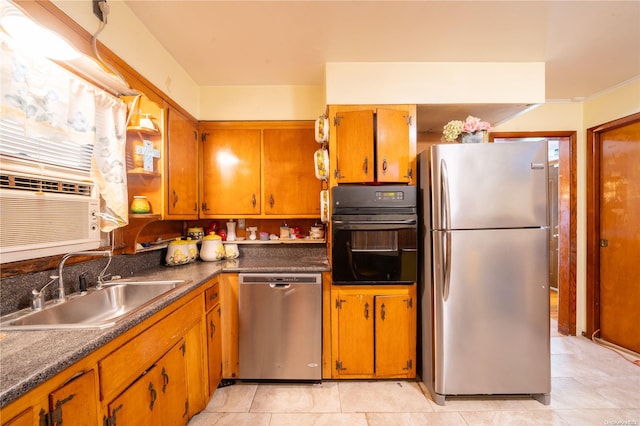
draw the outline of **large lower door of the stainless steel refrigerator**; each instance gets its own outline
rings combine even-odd
[[[549,394],[547,234],[434,231],[437,394]]]

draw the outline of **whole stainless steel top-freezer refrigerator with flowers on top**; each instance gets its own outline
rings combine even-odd
[[[421,378],[454,395],[549,404],[547,143],[421,153]]]

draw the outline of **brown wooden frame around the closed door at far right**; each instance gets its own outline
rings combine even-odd
[[[600,151],[602,134],[640,121],[640,113],[587,129],[586,336],[600,329]]]

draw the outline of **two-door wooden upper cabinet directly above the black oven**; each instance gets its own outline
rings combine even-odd
[[[415,107],[330,107],[332,184],[415,184]]]

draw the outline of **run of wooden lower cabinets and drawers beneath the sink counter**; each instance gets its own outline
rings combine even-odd
[[[7,404],[0,424],[186,424],[222,373],[218,293],[216,277]]]

